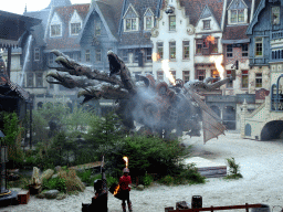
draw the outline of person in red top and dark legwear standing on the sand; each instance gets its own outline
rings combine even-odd
[[[123,172],[124,174],[119,178],[120,194],[123,197],[122,208],[123,208],[123,212],[126,212],[126,201],[127,201],[128,211],[133,212],[132,202],[129,200],[129,191],[130,191],[130,184],[132,184],[130,176],[128,176],[129,169],[125,168],[123,169]]]

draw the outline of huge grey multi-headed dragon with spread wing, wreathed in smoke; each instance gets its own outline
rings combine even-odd
[[[156,81],[153,75],[139,75],[135,81],[124,61],[113,51],[107,52],[108,72],[81,64],[57,50],[52,53],[60,66],[50,67],[56,72],[46,75],[48,83],[82,88],[77,93],[78,97],[84,97],[82,104],[91,99],[115,99],[115,112],[128,131],[136,130],[135,123],[138,123],[143,126],[139,131],[158,134],[163,138],[168,138],[172,131],[176,136],[182,136],[184,131],[200,136],[202,121],[205,142],[224,134],[221,119],[197,91],[213,91],[233,81],[234,76],[214,83],[216,78],[211,77],[186,84],[176,80],[176,85],[168,85]]]

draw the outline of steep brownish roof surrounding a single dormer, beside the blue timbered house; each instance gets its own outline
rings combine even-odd
[[[235,1],[235,0],[227,1],[222,43],[247,43],[250,41],[249,36],[245,34],[245,31],[249,28],[249,21],[251,18],[252,0],[239,0],[239,6],[241,8],[243,8],[245,6],[248,7],[248,24],[228,25],[228,10],[234,9],[233,1]]]

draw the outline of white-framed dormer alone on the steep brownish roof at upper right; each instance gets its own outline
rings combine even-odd
[[[248,23],[248,7],[242,0],[233,0],[228,7],[228,24]]]

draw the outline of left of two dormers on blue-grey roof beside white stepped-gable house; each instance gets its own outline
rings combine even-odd
[[[138,14],[134,7],[129,4],[125,15],[124,15],[124,31],[138,31],[139,22],[138,22]]]

